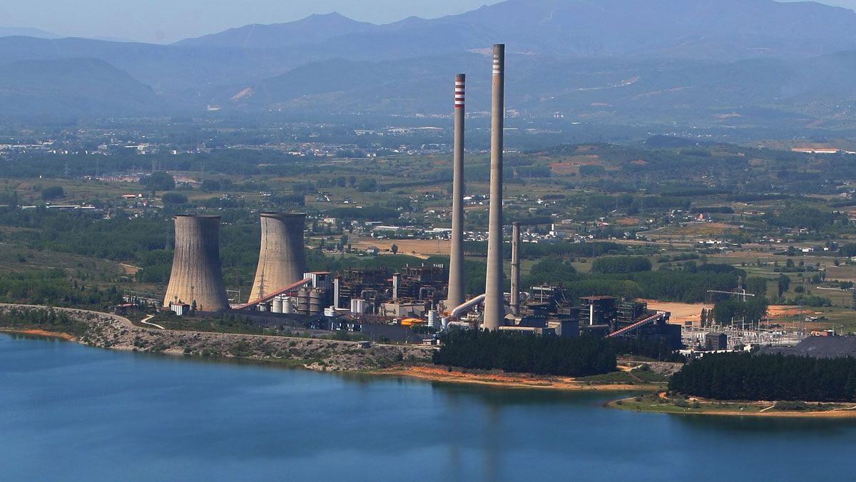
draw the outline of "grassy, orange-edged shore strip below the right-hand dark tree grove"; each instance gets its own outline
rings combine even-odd
[[[663,393],[658,394],[660,398],[665,399]],[[775,407],[775,402],[772,401],[747,401],[747,402],[733,402],[733,401],[706,401],[703,399],[698,399],[698,401],[702,401],[702,408],[691,408],[691,407],[677,407],[673,403],[651,403],[651,400],[647,401],[636,401],[635,397],[628,397],[619,400],[609,401],[604,404],[606,407],[615,408],[617,410],[624,410],[627,412],[639,412],[639,413],[663,413],[667,415],[713,415],[713,416],[723,416],[723,417],[778,417],[778,418],[789,418],[789,419],[856,419],[856,404],[854,403],[830,403],[829,405],[841,406],[837,408],[833,408],[830,410],[788,410],[788,411],[769,411],[773,407]],[[645,407],[641,407],[639,404],[645,403]],[[705,405],[714,405],[715,403],[721,403],[722,405],[727,406],[728,408],[723,407],[721,410],[717,410],[717,407],[704,407]],[[817,403],[817,402],[805,402],[808,404]],[[742,406],[749,407],[751,410],[734,410],[733,407]],[[847,407],[844,407],[847,406]],[[659,408],[659,409],[658,409]]]

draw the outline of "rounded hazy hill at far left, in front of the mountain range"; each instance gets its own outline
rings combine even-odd
[[[26,60],[0,69],[0,118],[153,114],[165,107],[151,87],[103,60]]]

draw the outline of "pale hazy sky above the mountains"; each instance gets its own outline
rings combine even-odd
[[[572,1],[572,0],[568,0]],[[434,18],[499,0],[0,0],[0,26],[80,37],[173,42],[249,23],[279,23],[337,11],[389,23]],[[823,3],[856,9],[856,0]]]

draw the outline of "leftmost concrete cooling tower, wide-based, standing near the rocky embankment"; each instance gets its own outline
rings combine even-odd
[[[163,305],[193,304],[198,310],[229,308],[220,267],[220,216],[175,216],[175,255]]]

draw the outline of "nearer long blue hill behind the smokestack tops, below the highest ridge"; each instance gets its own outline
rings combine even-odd
[[[506,105],[528,115],[770,127],[823,119],[841,127],[856,120],[847,114],[856,105],[856,51],[732,63],[513,54],[507,64]],[[487,111],[489,69],[490,59],[479,54],[377,63],[336,59],[235,88],[215,103],[245,110],[443,114],[450,110],[452,75],[462,70],[471,72],[468,110]]]

